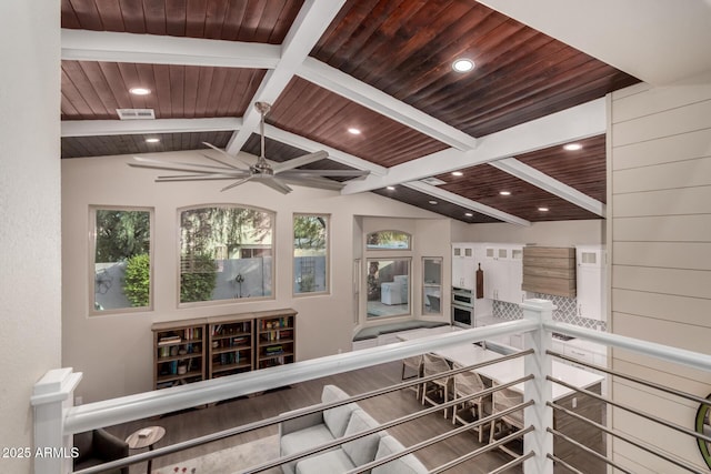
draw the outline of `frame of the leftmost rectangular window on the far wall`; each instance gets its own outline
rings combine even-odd
[[[96,309],[96,278],[97,278],[97,211],[124,211],[124,212],[148,212],[149,222],[149,265],[150,265],[150,284],[149,284],[149,303],[148,306],[126,306],[110,310],[97,310]],[[154,310],[156,303],[156,208],[151,206],[133,206],[133,205],[100,205],[89,204],[89,284],[88,284],[88,309],[89,316],[104,316],[126,313],[146,313]]]

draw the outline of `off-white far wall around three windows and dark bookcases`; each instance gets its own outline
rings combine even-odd
[[[168,157],[184,161],[198,159],[192,153]],[[353,254],[359,244],[358,222],[394,216],[420,232],[412,219],[434,219],[437,214],[408,204],[365,193],[340,195],[331,191],[294,188],[281,195],[258,184],[248,183],[220,193],[216,182],[154,183],[157,172],[137,170],[126,163],[130,157],[103,157],[62,161],[62,232],[63,248],[63,360],[84,373],[78,394],[86,402],[138,393],[152,389],[152,333],[156,321],[170,321],[203,315],[293,307],[299,311],[299,360],[334,354],[351,347],[354,316]],[[178,231],[177,209],[210,203],[240,203],[277,212],[276,292],[273,301],[222,303],[178,309]],[[88,208],[97,205],[139,205],[156,210],[154,229],[154,311],[119,315],[89,316],[89,219]],[[331,215],[331,294],[292,297],[292,236],[294,212]],[[429,222],[429,221],[428,221]],[[423,235],[435,235],[422,224]],[[417,239],[417,236],[415,236]],[[423,239],[423,243],[428,241]],[[449,254],[449,240],[438,245]],[[425,248],[429,250],[429,248]]]

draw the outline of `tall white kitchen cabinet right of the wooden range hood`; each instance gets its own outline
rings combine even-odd
[[[605,320],[604,258],[604,249],[601,245],[575,248],[578,315],[581,317]]]

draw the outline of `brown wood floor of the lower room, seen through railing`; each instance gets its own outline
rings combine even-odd
[[[121,438],[126,438],[132,432],[151,425],[160,425],[166,428],[166,437],[157,444],[157,447],[170,445],[197,436],[214,433],[221,430],[257,422],[282,412],[300,409],[320,402],[321,390],[324,384],[334,384],[349,394],[360,394],[371,390],[392,385],[400,382],[401,364],[388,363],[356,372],[338,374],[314,381],[293,385],[288,389],[268,392],[258,396],[236,399],[219,403],[210,407],[189,410],[169,414],[160,418],[141,420],[122,425],[110,426],[107,430]],[[402,390],[377,399],[365,400],[359,404],[381,423],[414,413],[422,406],[415,400],[412,390]],[[439,414],[431,414],[400,426],[389,428],[388,432],[395,436],[403,445],[410,446],[423,440],[445,433],[452,428],[451,420],[444,420]],[[277,426],[270,426],[241,435],[232,436],[220,442],[210,443],[181,453],[171,454],[153,461],[153,471],[161,466],[176,464],[192,457],[211,452],[248,443],[260,437],[277,434]],[[453,458],[470,453],[479,445],[477,434],[465,432],[442,441],[433,446],[425,447],[415,453],[428,468],[438,467]],[[474,460],[468,461],[448,471],[452,474],[479,474],[488,473],[511,461],[512,457],[501,451],[485,453]],[[574,465],[578,462],[572,463]],[[588,464],[590,466],[590,464]],[[247,466],[234,466],[234,471]],[[144,464],[131,466],[130,473],[144,473]],[[521,467],[513,467],[509,473],[521,473]],[[555,472],[564,473],[567,470]],[[587,470],[593,472],[604,472]],[[206,473],[200,473],[206,474]],[[221,474],[221,473],[211,473]],[[329,473],[330,474],[330,473]]]

